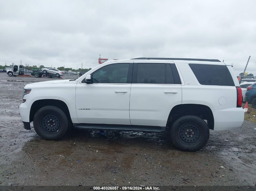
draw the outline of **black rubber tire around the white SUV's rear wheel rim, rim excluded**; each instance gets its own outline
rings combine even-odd
[[[193,145],[185,144],[179,138],[180,128],[186,123],[193,123],[200,131],[198,141]],[[182,151],[198,151],[206,145],[209,139],[209,128],[205,121],[197,116],[183,116],[173,124],[171,128],[171,140],[173,144]]]

